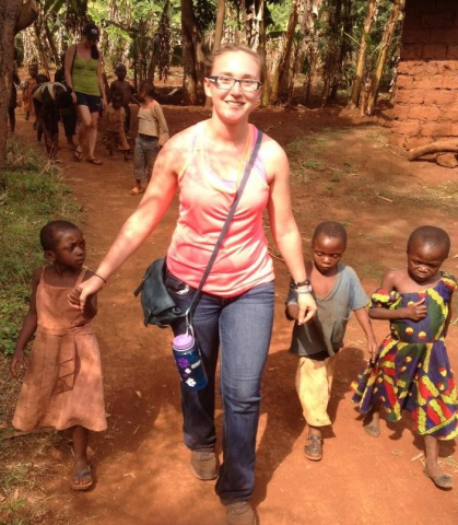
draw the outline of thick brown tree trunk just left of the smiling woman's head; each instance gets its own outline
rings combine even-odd
[[[202,104],[204,55],[202,32],[193,13],[192,0],[181,0],[183,86],[188,104]]]

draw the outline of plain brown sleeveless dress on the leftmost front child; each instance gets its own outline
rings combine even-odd
[[[70,305],[71,289],[45,282],[45,269],[36,290],[38,326],[13,427],[105,430],[101,353],[91,320]]]

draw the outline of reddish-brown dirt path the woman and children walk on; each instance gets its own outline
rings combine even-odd
[[[294,147],[294,141],[301,138],[309,138],[312,150],[314,144],[317,149],[321,147],[320,162],[329,161],[325,162],[324,171],[312,166],[316,159],[310,158],[309,151],[304,152],[305,156],[308,154],[308,165],[297,171],[297,155],[293,155],[292,162],[295,210],[305,246],[320,220],[345,221],[351,235],[345,260],[360,272],[371,292],[383,271],[402,264],[407,235],[423,219],[424,207],[416,209],[420,201],[414,201],[411,194],[421,197],[425,188],[437,190],[451,178],[453,172],[426,163],[408,165],[402,155],[385,145],[383,129],[360,129],[338,114],[337,108],[326,114],[272,109],[257,112],[254,121],[282,145],[290,143],[290,151],[291,144]],[[165,107],[165,115],[171,131],[176,132],[205,118],[208,113]],[[317,132],[325,128],[337,135],[330,133],[326,144],[314,142]],[[19,133],[32,139],[28,122],[19,122]],[[106,158],[102,145],[98,154],[104,161],[101,167],[72,162],[67,150],[60,155],[64,161],[64,178],[87,212],[83,229],[89,244],[87,264],[92,268],[139,201],[128,194],[132,186],[132,164],[124,163],[120,158]],[[327,171],[329,165],[338,167]],[[333,179],[339,170],[340,178]],[[390,192],[399,188],[401,182],[408,183],[403,194],[400,190],[404,201],[398,194],[392,197]],[[376,183],[380,185],[377,189]],[[132,295],[146,265],[165,253],[176,213],[175,202],[152,237],[101,293],[96,330],[110,416],[108,431],[94,435],[91,442],[96,485],[86,493],[72,492],[69,463],[61,460],[52,463],[54,477],[46,478],[49,495],[46,504],[59,509],[62,516],[70,516],[68,523],[224,523],[224,511],[214,494],[213,482],[195,480],[188,467],[189,453],[180,430],[178,375],[169,352],[171,331],[145,329],[138,300]],[[458,250],[456,215],[447,214],[447,210],[432,210],[428,218],[450,231],[455,254]],[[457,272],[456,261],[447,264],[448,270]],[[334,424],[326,434],[324,459],[320,463],[305,459],[304,420],[294,390],[296,360],[287,353],[292,327],[283,316],[289,276],[277,259],[275,270],[277,314],[263,378],[253,500],[259,523],[389,525],[402,520],[412,524],[458,523],[455,443],[444,445],[442,455],[445,469],[455,474],[457,488],[442,492],[422,474],[422,442],[412,433],[408,417],[397,427],[383,424],[379,439],[363,432],[349,392],[351,381],[364,366],[362,350],[365,350],[362,332],[353,320],[348,331],[348,347],[339,355],[330,404]],[[387,326],[379,323],[376,331],[381,339]],[[449,348],[451,362],[457,368],[456,326],[450,329]],[[220,407],[216,417],[221,431]]]

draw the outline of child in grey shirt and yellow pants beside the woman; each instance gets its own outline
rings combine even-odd
[[[318,224],[312,237],[313,260],[306,262],[308,290],[297,291],[290,283],[286,317],[297,319],[297,294],[313,293],[317,315],[307,324],[294,324],[290,352],[300,358],[296,389],[307,423],[305,457],[322,457],[321,427],[331,424],[327,407],[336,358],[343,347],[347,323],[352,312],[364,330],[371,359],[377,354],[377,341],[367,315],[368,298],[350,266],[341,262],[347,247],[347,231],[338,222]]]

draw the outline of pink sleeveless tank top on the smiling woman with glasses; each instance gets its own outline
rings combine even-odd
[[[251,128],[251,152],[258,130]],[[216,244],[238,180],[220,178],[204,156],[205,121],[195,126],[190,160],[178,177],[179,218],[167,253],[168,270],[192,288],[200,283]],[[269,185],[257,156],[244,194],[218,253],[203,291],[223,298],[239,295],[273,280],[272,259],[263,232],[262,211]]]

